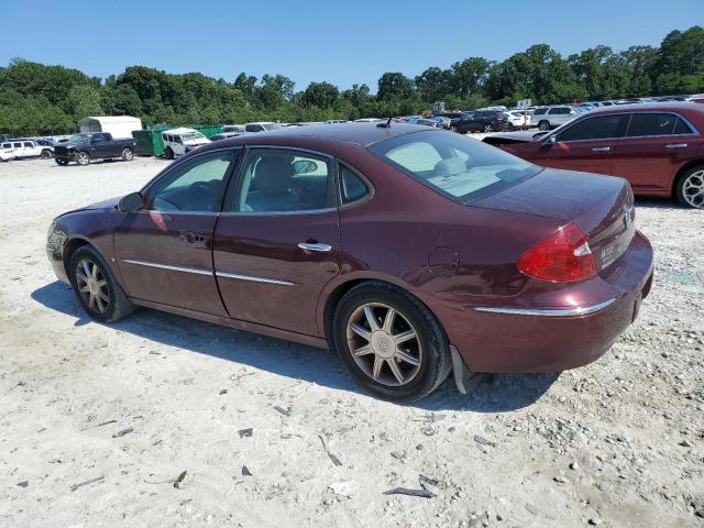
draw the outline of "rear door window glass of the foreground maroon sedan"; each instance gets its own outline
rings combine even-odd
[[[328,161],[288,148],[252,148],[242,164],[234,212],[296,212],[336,207]]]

